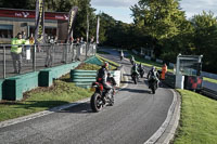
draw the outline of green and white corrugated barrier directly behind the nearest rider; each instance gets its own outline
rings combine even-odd
[[[119,87],[120,82],[120,70],[113,70],[111,71],[114,79]],[[80,69],[73,69],[71,70],[71,80],[75,82],[76,86],[82,88],[90,88],[91,83],[95,81],[97,70],[80,70]]]

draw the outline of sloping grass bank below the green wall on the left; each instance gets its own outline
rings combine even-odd
[[[0,121],[26,116],[91,96],[92,92],[78,88],[67,81],[69,81],[69,75],[55,80],[50,88],[38,88],[25,93],[23,101],[1,102]]]

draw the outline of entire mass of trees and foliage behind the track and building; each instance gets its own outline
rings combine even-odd
[[[212,12],[202,12],[187,19],[180,0],[139,0],[130,8],[133,23],[126,24],[106,13],[95,14],[91,0],[44,0],[46,11],[68,12],[79,8],[74,37],[86,38],[87,14],[90,34],[95,36],[100,16],[100,44],[122,49],[153,49],[155,56],[176,62],[181,54],[204,55],[203,70],[217,73],[217,19]],[[36,0],[1,0],[0,8],[35,9]]]

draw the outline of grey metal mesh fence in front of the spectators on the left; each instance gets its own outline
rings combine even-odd
[[[22,44],[21,53],[11,52],[11,44],[0,44],[0,79],[46,67],[82,62],[97,53],[92,43]]]

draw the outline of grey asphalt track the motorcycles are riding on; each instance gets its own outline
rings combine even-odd
[[[120,63],[118,53],[103,56]],[[174,94],[166,88],[150,94],[144,78],[140,78],[138,84],[132,83],[131,64],[126,60],[122,64],[128,86],[116,93],[114,106],[92,113],[88,101],[3,127],[0,128],[0,143],[143,144],[165,121]]]

